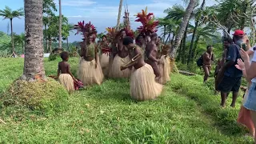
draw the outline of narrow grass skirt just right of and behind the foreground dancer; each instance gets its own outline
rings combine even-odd
[[[162,62],[158,64],[160,74],[162,75],[158,83],[161,84],[166,84],[166,82],[170,81],[170,63],[168,63],[167,59],[169,58],[162,56],[160,59]]]

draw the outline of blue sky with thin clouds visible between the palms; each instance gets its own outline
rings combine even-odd
[[[127,2],[130,11],[131,27],[135,30],[140,25],[134,22],[134,14],[137,14],[146,6],[149,12],[153,12],[157,18],[166,16],[163,10],[175,4],[185,6],[182,0],[123,0]],[[58,0],[55,0],[58,7]],[[24,7],[24,0],[0,0],[0,9],[9,6],[12,10]],[[214,0],[206,0],[206,5],[213,5]],[[84,20],[92,22],[97,27],[98,33],[104,32],[106,27],[115,26],[118,17],[119,0],[62,0],[62,14],[69,18],[70,23]],[[124,8],[122,8],[122,11]],[[124,14],[122,12],[122,14]],[[8,20],[0,17],[0,31],[7,32]],[[14,32],[20,34],[24,31],[24,18],[14,19]],[[9,30],[10,32],[10,30]],[[80,41],[79,36],[70,33],[70,42]]]

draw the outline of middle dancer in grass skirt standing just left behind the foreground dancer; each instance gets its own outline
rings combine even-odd
[[[130,61],[129,52],[126,46],[123,46],[122,40],[126,37],[126,30],[122,29],[118,32],[116,42],[118,44],[118,54],[115,55],[110,68],[110,78],[130,78],[131,70],[120,70],[120,66]]]

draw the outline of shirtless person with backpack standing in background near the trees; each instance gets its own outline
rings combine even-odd
[[[214,61],[213,46],[207,46],[206,52],[202,54],[202,69],[205,73],[203,82],[206,82],[210,76],[211,64]]]

